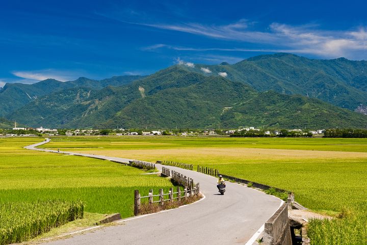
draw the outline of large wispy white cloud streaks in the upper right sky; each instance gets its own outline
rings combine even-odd
[[[177,51],[227,51],[227,52],[287,52],[313,54],[321,57],[367,59],[367,27],[354,30],[328,31],[317,25],[291,26],[281,23],[270,24],[267,32],[250,30],[244,20],[226,26],[205,26],[199,23],[142,24],[144,26],[186,32],[209,38],[234,40],[245,43],[268,44],[276,48],[198,48],[167,44],[155,44],[144,50],[169,48]]]

